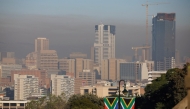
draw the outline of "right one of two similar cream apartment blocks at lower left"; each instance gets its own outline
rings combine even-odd
[[[74,78],[67,75],[51,75],[51,94],[65,94],[68,100],[74,94]]]

